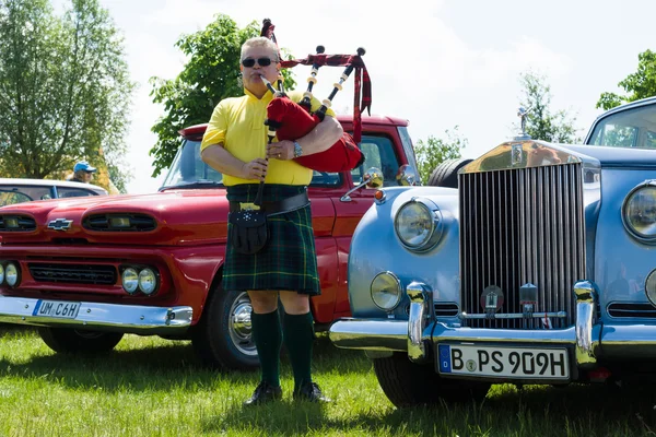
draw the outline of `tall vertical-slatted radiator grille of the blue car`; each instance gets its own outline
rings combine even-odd
[[[459,175],[462,311],[485,314],[485,290],[501,288],[497,314],[523,314],[519,288],[538,288],[534,312],[565,318],[465,319],[478,328],[549,329],[573,323],[573,285],[585,277],[581,164]],[[501,299],[497,299],[501,300]]]

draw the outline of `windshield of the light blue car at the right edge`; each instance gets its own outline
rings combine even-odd
[[[604,118],[595,126],[588,144],[656,149],[656,105],[641,106]]]

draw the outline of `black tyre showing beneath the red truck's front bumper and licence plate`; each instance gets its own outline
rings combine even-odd
[[[38,328],[42,340],[59,353],[101,353],[112,351],[122,339],[120,332],[83,331],[71,328]]]

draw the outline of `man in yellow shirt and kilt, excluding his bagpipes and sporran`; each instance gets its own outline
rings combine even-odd
[[[313,172],[294,157],[327,150],[342,135],[342,128],[329,110],[329,117],[307,135],[267,145],[263,122],[273,96],[261,78],[271,83],[278,79],[278,48],[268,38],[250,38],[242,46],[241,63],[245,95],[219,103],[202,139],[201,157],[223,174],[231,211],[253,202],[260,181],[265,182],[262,209],[277,211],[269,215],[269,239],[260,251],[239,253],[229,236],[223,267],[223,290],[248,291],[253,305],[250,321],[261,379],[245,404],[281,399],[279,366],[283,341],[294,373],[294,400],[329,402],[311,375],[314,322],[309,297],[320,294],[307,200]],[[294,102],[303,98],[300,92],[288,94]],[[313,110],[320,105],[313,98]],[[282,323],[279,296],[284,307]]]

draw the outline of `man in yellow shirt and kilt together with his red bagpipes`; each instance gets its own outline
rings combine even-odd
[[[201,143],[202,160],[224,175],[230,201],[222,285],[223,290],[248,291],[253,305],[251,332],[261,380],[246,404],[281,398],[283,341],[294,374],[294,399],[328,402],[311,374],[314,327],[309,296],[320,294],[320,287],[307,185],[313,168],[339,172],[362,164],[356,145],[360,113],[371,105],[371,86],[360,59],[364,50],[355,57],[319,54],[317,58],[281,61],[273,26],[268,20],[263,24],[262,35],[267,37],[248,39],[242,46],[245,95],[219,103]],[[281,80],[281,67],[298,63],[313,66],[308,91],[281,96],[271,83]],[[323,64],[347,69],[330,96],[320,103],[311,92]],[[332,97],[354,68],[356,140],[342,131],[330,109]],[[358,104],[361,80],[362,108]],[[282,328],[279,296],[284,307]]]

